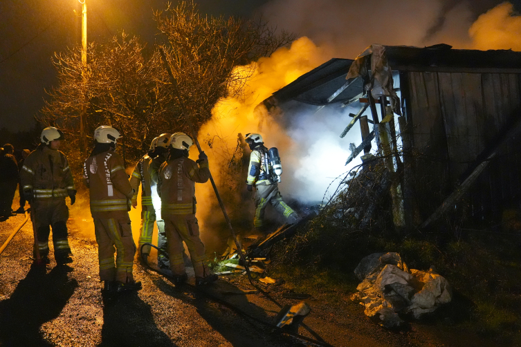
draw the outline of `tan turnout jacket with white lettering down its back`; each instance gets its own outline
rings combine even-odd
[[[134,189],[118,153],[109,150],[87,158],[83,178],[90,189],[93,218],[128,216]]]

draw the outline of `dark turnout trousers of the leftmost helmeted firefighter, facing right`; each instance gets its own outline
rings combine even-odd
[[[68,207],[65,205],[65,199],[35,200],[30,207],[30,220],[33,222],[37,237],[35,247],[38,247],[40,256],[48,256],[49,254],[51,226],[53,227],[55,259],[72,254],[71,247],[68,245]]]

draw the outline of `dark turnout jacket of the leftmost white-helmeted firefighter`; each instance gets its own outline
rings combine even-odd
[[[24,161],[20,185],[23,190],[32,189],[37,200],[65,198],[67,189],[76,189],[64,153],[45,144],[40,144]]]

